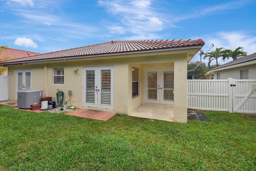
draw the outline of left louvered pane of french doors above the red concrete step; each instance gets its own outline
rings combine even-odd
[[[86,103],[95,103],[95,71],[86,71]]]

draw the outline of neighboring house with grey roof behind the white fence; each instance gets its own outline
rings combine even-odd
[[[256,79],[256,53],[212,68],[210,72],[214,72],[214,80],[228,78],[254,80]]]

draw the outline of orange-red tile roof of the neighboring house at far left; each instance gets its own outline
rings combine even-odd
[[[7,48],[7,49],[2,49],[2,52],[0,53],[0,60],[6,57],[13,57],[12,59],[17,59],[17,58],[23,58],[25,56],[34,56],[38,54],[39,53]]]

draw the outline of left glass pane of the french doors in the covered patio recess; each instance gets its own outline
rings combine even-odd
[[[157,100],[157,72],[148,72],[148,99]]]

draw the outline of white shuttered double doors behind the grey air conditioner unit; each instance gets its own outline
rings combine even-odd
[[[17,70],[16,73],[16,89],[31,89],[31,70]]]

